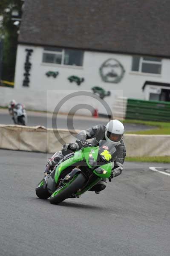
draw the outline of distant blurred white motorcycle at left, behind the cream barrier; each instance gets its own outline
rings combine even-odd
[[[17,108],[14,108],[14,124],[17,125],[26,125],[27,124],[27,115],[26,110],[23,108],[22,105],[17,105]]]

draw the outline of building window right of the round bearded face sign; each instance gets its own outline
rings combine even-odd
[[[133,56],[132,71],[161,74],[161,58]]]

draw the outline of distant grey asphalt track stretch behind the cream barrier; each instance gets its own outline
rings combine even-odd
[[[28,124],[29,126],[36,126],[36,125],[43,125],[48,128],[52,128],[52,115],[46,113],[36,113],[36,112],[27,112],[28,113]],[[57,128],[69,128],[71,129],[71,126],[67,125],[67,116],[65,115],[58,115],[56,119]],[[69,121],[72,120],[72,118],[69,118]],[[94,125],[103,124],[106,125],[108,122],[108,119],[106,118],[92,118],[92,117],[82,117],[82,116],[75,116],[73,118],[73,126],[75,129],[87,129],[89,127],[92,127]],[[9,113],[7,110],[0,110],[0,124],[7,124],[7,125],[13,125],[13,121],[11,116],[9,116]],[[69,122],[70,124],[70,122]],[[141,131],[141,130],[148,130],[151,128],[155,128],[152,126],[147,125],[138,125],[138,124],[130,124],[130,123],[124,123],[125,131]]]

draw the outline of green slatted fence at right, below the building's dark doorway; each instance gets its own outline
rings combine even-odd
[[[170,102],[127,99],[126,118],[170,122]]]

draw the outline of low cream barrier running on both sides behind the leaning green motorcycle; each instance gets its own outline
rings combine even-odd
[[[58,139],[54,134],[56,131],[60,134]],[[0,125],[0,148],[53,154],[61,150],[62,140],[74,142],[77,132],[72,131],[71,135],[67,129]],[[125,134],[124,142],[128,157],[170,156],[170,135]]]

